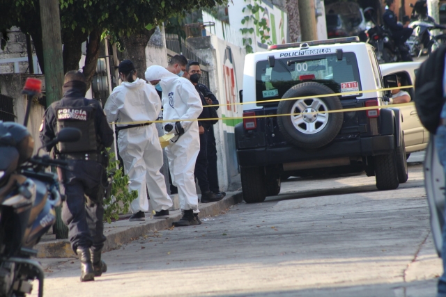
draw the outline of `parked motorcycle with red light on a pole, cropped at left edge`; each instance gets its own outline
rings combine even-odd
[[[54,208],[61,204],[59,179],[55,173],[45,169],[68,166],[66,161],[54,160],[48,155],[38,156],[37,153],[31,157],[34,141],[26,124],[31,99],[40,92],[25,88],[25,93],[29,95],[29,100],[24,125],[0,122],[1,297],[30,294],[31,281],[35,279],[39,282],[38,296],[43,296],[44,273],[40,264],[31,259],[37,255],[33,246],[54,224]],[[80,137],[78,129],[61,129],[47,147],[59,142],[78,141]]]

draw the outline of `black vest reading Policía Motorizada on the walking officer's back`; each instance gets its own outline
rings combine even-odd
[[[65,127],[81,130],[82,137],[75,143],[59,143],[61,154],[92,152],[98,150],[98,136],[95,129],[94,106],[59,106],[56,108],[57,131]]]

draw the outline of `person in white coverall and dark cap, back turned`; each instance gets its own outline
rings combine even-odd
[[[161,111],[160,98],[153,86],[137,78],[130,60],[122,61],[118,71],[123,83],[114,88],[104,111],[109,122],[116,122],[118,150],[130,179],[129,191],[138,191],[138,198],[130,204],[130,220],[145,219],[147,188],[156,211],[153,218],[169,218],[172,200],[160,172],[162,148],[155,125],[148,123],[156,120]]]

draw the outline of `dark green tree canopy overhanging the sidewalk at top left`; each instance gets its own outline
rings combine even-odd
[[[42,0],[40,0],[42,1]],[[124,55],[132,59],[140,77],[146,70],[145,47],[155,26],[188,10],[210,8],[228,0],[60,0],[63,70],[77,70],[82,43],[87,41],[84,74],[95,73],[101,35],[119,38]],[[40,65],[44,64],[38,0],[0,0],[0,32],[12,26],[33,38]],[[43,67],[42,67],[43,68]]]

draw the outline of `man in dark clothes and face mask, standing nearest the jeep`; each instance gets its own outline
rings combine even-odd
[[[210,109],[213,107],[204,107],[209,105],[203,96],[200,88],[201,83],[199,79],[201,77],[200,64],[198,62],[190,62],[186,66],[186,72],[195,89],[200,95],[201,104],[203,104],[203,111],[199,115],[199,119],[212,118],[210,116]],[[203,86],[203,85],[201,85]],[[210,102],[212,104],[212,102]],[[214,193],[210,190],[210,182],[208,179],[208,137],[209,130],[212,127],[212,123],[208,120],[199,120],[199,132],[200,132],[200,152],[197,157],[197,163],[195,163],[195,176],[198,179],[198,184],[201,191],[201,203],[220,201],[224,198],[222,193]],[[215,138],[214,138],[215,141]]]

